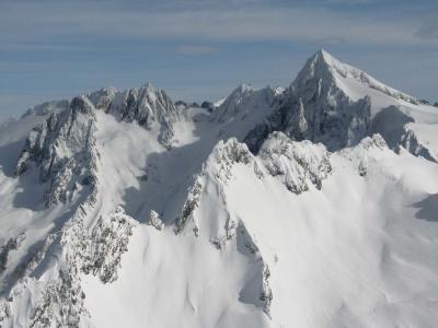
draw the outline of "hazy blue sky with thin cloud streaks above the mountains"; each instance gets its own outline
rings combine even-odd
[[[438,101],[438,0],[0,0],[0,118],[110,85],[287,86],[320,48]]]

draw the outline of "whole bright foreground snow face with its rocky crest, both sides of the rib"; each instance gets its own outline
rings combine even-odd
[[[393,153],[379,136],[327,153],[275,133],[262,149],[254,156],[235,139],[220,142],[177,235],[140,225],[114,283],[85,278],[94,323],[433,327],[437,166]],[[307,188],[289,188],[273,161]],[[117,311],[102,308],[102,295]]]

